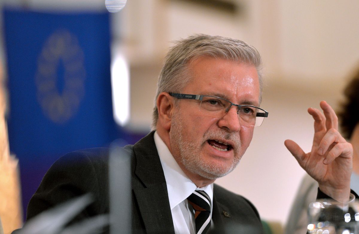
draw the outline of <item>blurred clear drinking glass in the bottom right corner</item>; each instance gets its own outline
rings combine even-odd
[[[359,234],[359,200],[324,199],[309,205],[309,234]]]

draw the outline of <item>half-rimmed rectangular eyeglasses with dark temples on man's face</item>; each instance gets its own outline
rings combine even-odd
[[[255,106],[234,104],[220,97],[181,93],[169,93],[169,95],[179,99],[199,100],[199,111],[201,111],[201,114],[204,116],[222,118],[231,106],[236,106],[239,122],[244,126],[261,126],[264,118],[268,117],[268,112],[264,109]]]

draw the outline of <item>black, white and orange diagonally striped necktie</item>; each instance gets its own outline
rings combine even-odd
[[[196,233],[206,233],[211,226],[211,200],[207,193],[195,190],[188,198],[195,210]]]

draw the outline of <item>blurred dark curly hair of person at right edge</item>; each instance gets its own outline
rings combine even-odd
[[[350,139],[355,126],[359,122],[359,69],[344,89],[345,101],[341,103],[338,113],[341,132],[346,139]]]

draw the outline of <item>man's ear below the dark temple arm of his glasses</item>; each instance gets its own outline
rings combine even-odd
[[[174,110],[173,97],[162,92],[157,97],[158,123],[162,128],[169,131],[171,128],[172,113]]]

